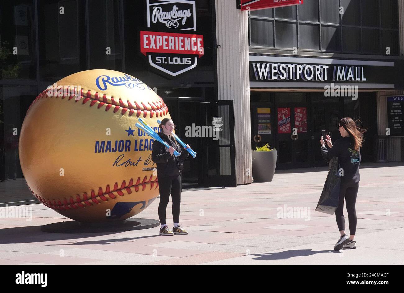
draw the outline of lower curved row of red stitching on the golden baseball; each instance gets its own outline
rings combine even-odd
[[[40,202],[42,202],[42,204],[46,205],[46,207],[49,207],[50,209],[67,211],[71,209],[84,208],[86,206],[90,207],[93,204],[100,204],[100,200],[108,201],[107,196],[109,196],[109,198],[111,199],[115,199],[117,197],[116,194],[118,194],[119,196],[124,196],[122,190],[126,190],[128,194],[131,194],[132,193],[131,188],[135,188],[135,191],[139,192],[139,185],[142,185],[142,191],[144,191],[146,189],[146,184],[148,183],[150,184],[150,190],[151,190],[154,186],[154,183],[156,183],[156,187],[154,188],[154,190],[156,190],[158,188],[158,178],[156,177],[156,179],[154,179],[153,181],[151,180],[152,178],[153,175],[150,175],[149,180],[147,180],[147,176],[145,176],[143,180],[140,181],[141,178],[138,177],[135,184],[133,184],[133,178],[129,180],[128,184],[126,184],[126,181],[124,180],[122,181],[120,188],[118,188],[118,182],[115,182],[114,189],[112,191],[109,185],[107,185],[105,187],[105,191],[103,191],[103,189],[99,187],[97,195],[95,194],[94,190],[91,190],[90,197],[88,197],[88,194],[84,192],[82,198],[80,197],[79,194],[76,194],[75,196],[76,198],[70,196],[69,200],[67,200],[67,198],[63,198],[63,199],[54,199],[53,202],[51,202],[50,200],[41,198],[36,193],[34,193],[34,191],[32,191],[32,194],[34,194],[35,197],[38,198]],[[29,190],[31,190],[29,186],[28,188]]]

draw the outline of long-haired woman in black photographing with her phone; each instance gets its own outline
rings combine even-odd
[[[333,157],[337,157],[340,162],[341,172],[341,187],[339,192],[339,206],[335,210],[335,219],[341,237],[335,244],[334,249],[340,250],[342,247],[356,248],[355,233],[356,233],[356,196],[359,189],[359,165],[360,165],[360,148],[362,147],[363,133],[367,129],[361,129],[356,123],[360,120],[353,121],[351,117],[345,117],[339,120],[337,127],[341,134],[340,139],[337,139],[334,144],[331,143],[331,137],[327,135],[326,148],[323,137],[320,139],[321,154],[327,162]],[[346,208],[349,221],[349,237],[345,233],[345,218],[343,215],[344,198],[346,200]]]

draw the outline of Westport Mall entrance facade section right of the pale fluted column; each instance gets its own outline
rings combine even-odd
[[[274,145],[278,168],[320,166],[321,131],[339,137],[350,116],[368,129],[363,162],[403,161],[402,11],[402,1],[377,0],[252,11],[252,145]]]

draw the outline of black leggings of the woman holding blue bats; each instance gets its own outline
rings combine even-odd
[[[173,220],[179,223],[179,207],[181,204],[181,175],[163,177],[158,179],[158,187],[160,189],[160,203],[158,204],[158,217],[160,223],[166,223],[166,209],[168,200],[173,200]]]

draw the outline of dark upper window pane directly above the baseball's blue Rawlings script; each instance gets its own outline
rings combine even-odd
[[[89,13],[88,15],[90,69],[122,70],[120,43],[122,32],[119,29],[118,5],[118,0],[88,1],[89,11],[97,11],[97,14]]]

